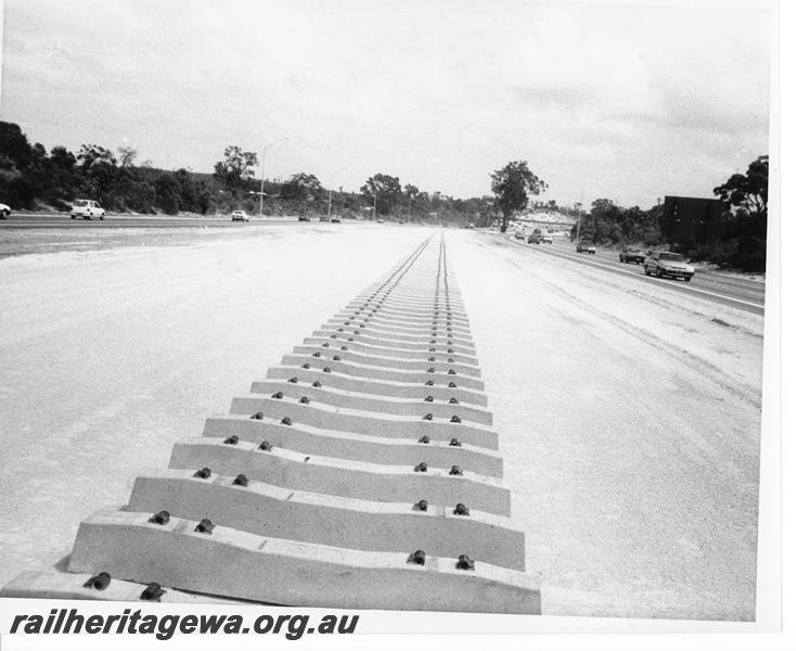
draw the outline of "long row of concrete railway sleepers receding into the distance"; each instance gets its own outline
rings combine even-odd
[[[7,597],[541,612],[441,235]]]

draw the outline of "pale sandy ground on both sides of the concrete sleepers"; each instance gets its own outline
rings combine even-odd
[[[274,227],[0,261],[0,584],[61,560],[82,518],[427,234]],[[753,618],[762,319],[447,241],[544,613]]]

